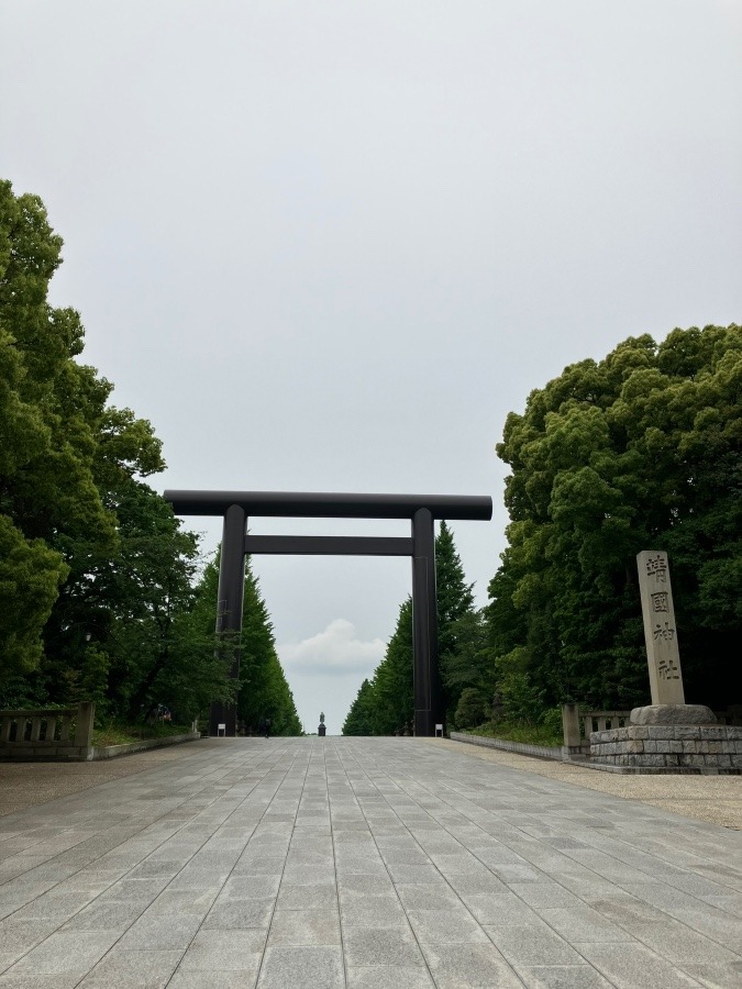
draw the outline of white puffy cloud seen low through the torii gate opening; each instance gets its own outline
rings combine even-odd
[[[277,646],[287,675],[291,673],[359,674],[370,676],[381,662],[386,643],[381,638],[364,642],[356,637],[353,622],[334,619],[317,635]]]

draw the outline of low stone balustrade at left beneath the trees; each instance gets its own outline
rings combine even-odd
[[[0,711],[0,759],[89,759],[93,703]]]

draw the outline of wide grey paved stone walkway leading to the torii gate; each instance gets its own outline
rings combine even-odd
[[[742,837],[414,738],[210,740],[0,818],[0,987],[742,986]]]

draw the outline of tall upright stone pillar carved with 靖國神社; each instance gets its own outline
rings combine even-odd
[[[680,654],[675,631],[675,608],[669,586],[667,554],[643,549],[636,554],[642,594],[644,640],[653,704],[684,704]]]

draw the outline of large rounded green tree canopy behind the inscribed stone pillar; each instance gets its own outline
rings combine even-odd
[[[635,554],[669,553],[686,699],[719,704],[742,637],[742,331],[675,330],[567,367],[508,416],[509,546],[490,647],[510,714],[649,702]]]

